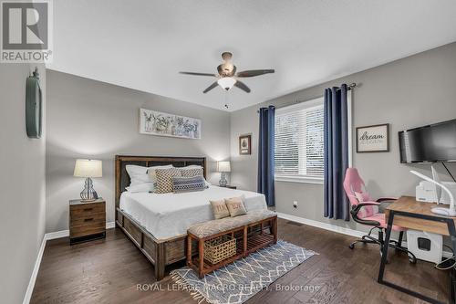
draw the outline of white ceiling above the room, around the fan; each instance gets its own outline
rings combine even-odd
[[[229,110],[456,41],[454,0],[54,1],[48,68]],[[250,94],[214,80],[223,51]],[[128,100],[125,100],[128,102]]]

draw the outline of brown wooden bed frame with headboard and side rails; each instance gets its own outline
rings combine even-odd
[[[136,164],[141,166],[156,166],[172,164],[184,167],[191,164],[201,165],[204,177],[207,173],[205,157],[166,157],[166,156],[124,156],[116,155],[116,225],[129,236],[134,245],[146,256],[155,268],[155,278],[160,281],[165,276],[165,267],[186,258],[185,236],[175,236],[166,240],[158,240],[152,236],[136,220],[120,210],[120,194],[130,184],[130,176],[125,166]],[[192,254],[196,254],[195,252]]]

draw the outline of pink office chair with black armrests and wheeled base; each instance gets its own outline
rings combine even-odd
[[[378,213],[378,206],[383,202],[395,201],[396,198],[392,197],[381,197],[375,202],[370,198],[370,195],[365,190],[366,185],[358,174],[356,168],[348,168],[345,174],[344,190],[350,201],[351,210],[350,214],[353,220],[359,224],[372,225],[373,227],[369,230],[367,236],[363,236],[361,239],[356,240],[350,244],[350,249],[355,248],[355,244],[378,244],[381,249],[385,245],[383,240],[383,231],[387,228],[388,223],[385,219],[385,214]],[[378,229],[378,238],[371,236],[372,231]],[[399,225],[392,226],[393,231],[399,232],[398,241],[390,241],[389,246],[393,247],[401,252],[405,252],[409,255],[410,263],[416,263],[417,258],[402,246],[402,237],[406,228],[402,228]]]

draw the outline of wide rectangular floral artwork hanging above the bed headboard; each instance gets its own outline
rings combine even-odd
[[[140,133],[201,139],[202,121],[155,110],[140,109]]]

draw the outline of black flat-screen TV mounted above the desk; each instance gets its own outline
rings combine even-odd
[[[399,131],[400,162],[456,162],[456,120]]]

